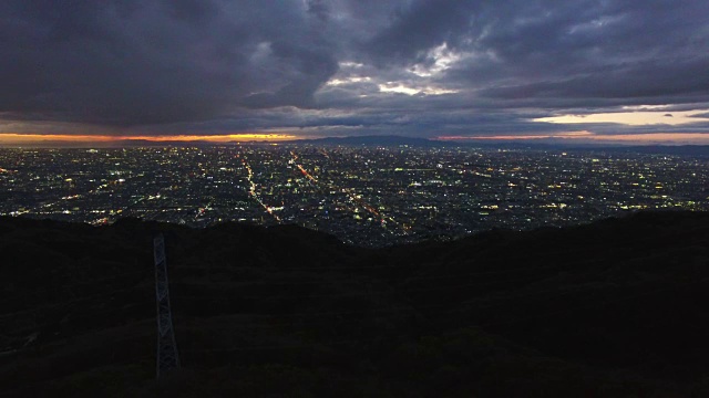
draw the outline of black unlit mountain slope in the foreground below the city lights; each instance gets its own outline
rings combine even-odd
[[[155,383],[152,238],[183,369]],[[709,396],[709,214],[347,247],[0,219],[0,397]]]

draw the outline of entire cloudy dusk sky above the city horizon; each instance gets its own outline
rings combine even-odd
[[[706,0],[3,0],[0,41],[0,143],[709,144]]]

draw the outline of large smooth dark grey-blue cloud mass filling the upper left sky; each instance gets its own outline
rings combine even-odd
[[[307,106],[330,44],[300,3],[259,4],[4,2],[0,111],[140,125]]]

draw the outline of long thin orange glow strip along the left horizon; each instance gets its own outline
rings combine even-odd
[[[246,142],[246,140],[267,140],[278,142],[287,139],[298,139],[298,137],[289,134],[260,134],[260,133],[242,133],[226,135],[169,135],[169,136],[112,136],[112,135],[71,135],[71,134],[17,134],[0,133],[0,144],[35,144],[42,142],[60,142],[60,143],[113,143],[121,140],[147,140],[153,143],[164,142],[209,142],[209,143],[228,143],[228,142]]]

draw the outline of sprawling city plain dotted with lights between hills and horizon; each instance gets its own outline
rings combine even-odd
[[[709,210],[709,159],[407,146],[8,148],[0,187],[0,214],[297,223],[382,245],[626,210]]]

